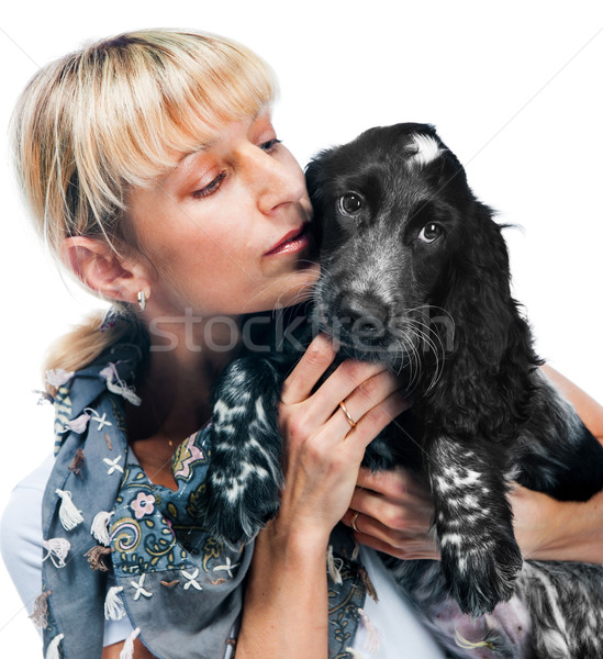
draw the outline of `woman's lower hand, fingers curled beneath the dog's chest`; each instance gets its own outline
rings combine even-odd
[[[357,543],[403,559],[439,559],[429,532],[434,506],[427,483],[411,471],[360,469],[344,524]]]

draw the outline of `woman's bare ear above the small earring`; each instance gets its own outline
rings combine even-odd
[[[150,289],[143,265],[116,255],[103,241],[68,237],[63,243],[62,260],[91,291],[112,300],[135,303],[138,291]]]

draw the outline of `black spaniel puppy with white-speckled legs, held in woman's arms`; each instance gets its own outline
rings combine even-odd
[[[516,593],[535,656],[600,657],[603,569],[522,568],[513,534],[512,480],[588,500],[603,488],[603,448],[538,368],[491,209],[426,124],[371,129],[323,152],[306,179],[321,241],[312,326],[337,338],[342,358],[387,364],[414,395],[412,418],[392,423],[365,460],[411,466],[431,484],[442,562],[388,560],[399,583],[427,619],[451,596],[480,621],[479,651],[492,654],[444,638],[449,656],[523,656],[496,616],[482,616]],[[219,383],[206,524],[222,537],[252,538],[278,510],[277,401],[298,357],[249,356]]]

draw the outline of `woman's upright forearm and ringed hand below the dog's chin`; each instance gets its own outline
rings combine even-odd
[[[409,407],[382,366],[357,361],[313,392],[335,355],[319,335],[281,391],[286,484],[278,515],[255,543],[237,659],[326,659],[328,537],[349,506],[366,447]]]

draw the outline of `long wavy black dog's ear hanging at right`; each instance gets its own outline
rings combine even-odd
[[[443,272],[440,305],[455,324],[454,348],[434,404],[446,411],[454,401],[468,418],[479,414],[480,432],[504,442],[528,414],[531,373],[541,360],[511,295],[501,227],[490,209],[474,203],[468,232]]]

